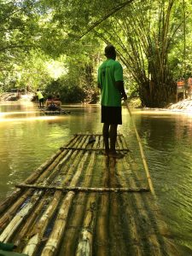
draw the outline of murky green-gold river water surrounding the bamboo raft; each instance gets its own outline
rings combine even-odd
[[[32,102],[0,103],[0,201],[78,132],[101,133],[99,106],[67,105],[44,116]],[[192,113],[133,109],[161,212],[183,255],[192,255]],[[119,126],[135,157],[137,139],[123,108]]]

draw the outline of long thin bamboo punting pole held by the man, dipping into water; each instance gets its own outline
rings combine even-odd
[[[153,186],[153,183],[152,183],[152,180],[151,180],[151,177],[150,177],[150,174],[149,174],[149,171],[148,171],[148,164],[147,164],[147,160],[145,158],[145,154],[144,154],[144,151],[143,151],[143,145],[142,145],[142,141],[139,137],[139,134],[138,134],[138,131],[137,131],[137,127],[135,125],[135,122],[132,118],[132,114],[131,114],[131,110],[129,108],[129,105],[128,105],[128,102],[125,101],[125,105],[126,105],[126,108],[128,110],[128,112],[130,113],[130,117],[131,117],[131,122],[132,122],[132,125],[133,125],[133,128],[134,128],[134,131],[136,133],[136,137],[137,137],[137,143],[139,144],[139,148],[140,148],[140,153],[141,153],[141,156],[142,156],[142,160],[143,160],[143,166],[144,166],[144,170],[146,172],[146,175],[147,175],[147,179],[148,179],[148,186],[151,190],[151,193],[152,195],[154,195],[154,197],[156,197],[155,193],[154,193],[154,186]]]

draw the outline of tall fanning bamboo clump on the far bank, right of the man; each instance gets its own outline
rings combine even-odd
[[[106,43],[115,44],[119,58],[137,81],[143,106],[164,107],[176,92],[169,55],[182,26],[174,0],[131,3],[97,28]]]

